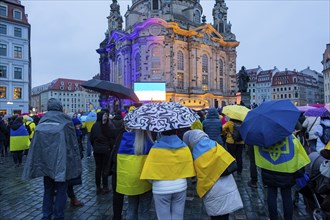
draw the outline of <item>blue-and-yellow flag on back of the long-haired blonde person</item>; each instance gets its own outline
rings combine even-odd
[[[151,190],[151,184],[147,180],[140,180],[140,175],[152,143],[146,142],[144,155],[135,155],[134,139],[135,132],[125,132],[117,154],[116,191],[129,196]]]

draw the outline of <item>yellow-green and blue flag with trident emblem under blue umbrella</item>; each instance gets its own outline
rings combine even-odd
[[[258,167],[281,173],[294,173],[311,162],[294,135],[268,148],[254,146],[254,155]]]

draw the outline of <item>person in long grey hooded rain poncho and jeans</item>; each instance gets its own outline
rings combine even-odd
[[[36,127],[22,178],[43,177],[42,219],[64,219],[67,181],[82,173],[79,146],[71,118],[62,103],[48,100]]]

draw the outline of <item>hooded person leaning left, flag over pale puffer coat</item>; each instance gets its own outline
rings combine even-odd
[[[203,200],[206,213],[212,220],[229,219],[229,213],[243,208],[233,175],[225,173],[235,159],[201,130],[187,131],[183,141],[193,153],[196,190]]]

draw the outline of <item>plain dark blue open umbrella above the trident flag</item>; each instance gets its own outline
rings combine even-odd
[[[240,134],[246,144],[269,147],[292,134],[299,116],[289,100],[266,101],[249,111]]]

